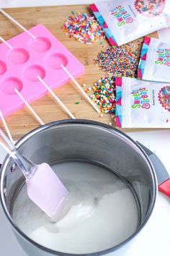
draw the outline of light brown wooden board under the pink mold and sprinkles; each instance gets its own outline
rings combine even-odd
[[[37,24],[45,25],[45,27],[47,27],[48,30],[50,30],[50,32],[53,33],[53,35],[55,35],[82,64],[84,64],[85,73],[79,77],[78,82],[80,85],[86,83],[86,88],[89,88],[104,75],[104,72],[94,65],[94,59],[97,58],[99,51],[109,46],[109,43],[107,40],[102,40],[102,44],[97,42],[93,45],[85,45],[84,43],[80,43],[74,38],[69,38],[68,35],[65,35],[61,27],[66,18],[71,15],[72,11],[81,13],[90,12],[89,6],[86,5],[6,9],[6,12],[14,17],[14,19],[18,20],[24,27],[27,27],[27,29],[30,29]],[[8,40],[19,33],[22,33],[22,30],[0,14],[0,35]],[[158,35],[157,33],[153,33],[152,36],[157,37]],[[112,126],[115,127],[115,121],[114,119],[111,119],[109,115],[104,114],[103,117],[99,117],[97,112],[94,111],[81,93],[79,93],[79,90],[76,89],[76,86],[73,85],[73,82],[69,82],[61,88],[58,88],[55,90],[55,93],[58,95],[58,98],[66,104],[76,118],[102,121],[104,124],[112,123]],[[89,92],[89,95],[91,93],[92,91]],[[75,104],[76,102],[79,102],[79,104]],[[69,118],[50,95],[45,95],[45,97],[32,103],[32,108],[34,108],[45,123]],[[35,129],[40,125],[27,108],[23,108],[22,110],[17,111],[17,113],[8,116],[6,118],[6,123],[12,132],[14,140],[18,140],[27,132],[30,132],[30,130]],[[0,124],[0,126],[3,127],[2,124]],[[125,130],[128,132],[135,132],[141,129],[123,129],[123,131]]]

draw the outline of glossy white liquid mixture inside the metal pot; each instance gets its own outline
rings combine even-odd
[[[138,208],[130,188],[106,168],[67,162],[53,166],[74,204],[57,223],[27,197],[25,187],[14,203],[13,218],[27,236],[59,252],[84,254],[114,247],[138,227]]]

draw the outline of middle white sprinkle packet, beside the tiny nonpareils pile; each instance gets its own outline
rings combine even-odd
[[[170,82],[170,43],[144,38],[138,66],[138,78]]]

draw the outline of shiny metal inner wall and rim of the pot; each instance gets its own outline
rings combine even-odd
[[[17,148],[35,163],[46,162],[53,166],[67,161],[84,161],[104,166],[128,184],[138,208],[138,227],[121,244],[138,234],[151,216],[156,199],[156,179],[151,163],[138,145],[117,129],[86,120],[58,121],[30,132],[19,140]],[[14,168],[11,158],[6,159],[1,169],[2,205],[14,229],[23,236],[24,231],[13,221],[12,211],[24,177]]]

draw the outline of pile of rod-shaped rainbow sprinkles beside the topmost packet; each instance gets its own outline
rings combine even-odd
[[[74,14],[72,12],[72,14]],[[81,43],[92,44],[97,40],[104,38],[104,31],[99,25],[94,16],[90,14],[76,13],[75,16],[70,16],[64,22],[63,31],[74,37]]]

